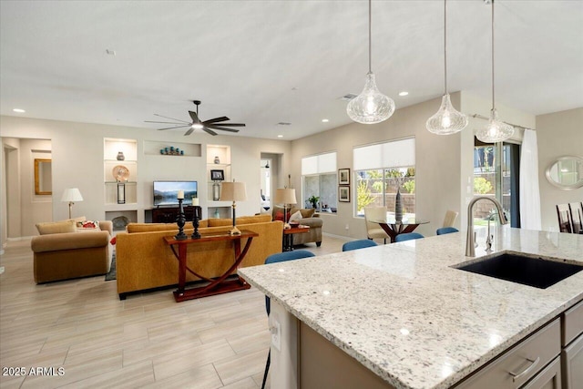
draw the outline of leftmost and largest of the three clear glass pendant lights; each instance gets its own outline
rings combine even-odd
[[[363,124],[380,123],[394,112],[393,99],[384,96],[376,87],[371,70],[371,0],[368,0],[368,74],[363,91],[348,103],[346,112],[354,121]]]

